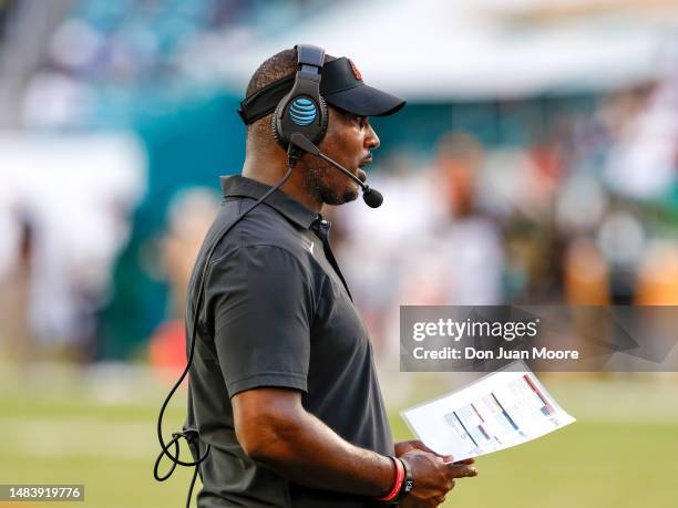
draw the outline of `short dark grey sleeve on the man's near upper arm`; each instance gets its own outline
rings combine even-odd
[[[214,340],[229,396],[260,387],[307,391],[310,277],[289,251],[240,247],[210,268]]]

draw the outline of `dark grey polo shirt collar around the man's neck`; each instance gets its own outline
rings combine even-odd
[[[251,178],[247,178],[243,175],[222,176],[220,180],[222,190],[224,191],[224,197],[226,198],[248,197],[259,199],[268,190],[270,190],[270,186],[253,180]],[[296,222],[305,229],[309,229],[311,224],[314,224],[320,217],[320,214],[309,210],[295,198],[288,196],[279,189],[268,196],[264,204],[276,209],[289,220]]]

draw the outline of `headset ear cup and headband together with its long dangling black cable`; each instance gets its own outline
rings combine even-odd
[[[188,352],[188,359],[186,366],[174,386],[170,390],[170,393],[165,397],[163,405],[161,406],[157,415],[157,438],[161,445],[161,453],[155,460],[153,467],[153,476],[157,481],[165,481],[168,479],[177,465],[194,467],[193,478],[191,479],[191,487],[188,488],[188,495],[186,497],[186,508],[191,506],[191,497],[193,495],[193,488],[195,480],[198,475],[198,465],[203,463],[209,455],[210,445],[207,444],[205,453],[199,456],[196,460],[181,460],[179,459],[179,444],[178,440],[184,438],[188,445],[195,444],[199,439],[197,429],[184,428],[182,432],[175,432],[172,434],[172,439],[165,443],[163,438],[162,423],[165,414],[165,409],[172,400],[174,393],[178,390],[186,375],[191,370],[193,363],[193,356],[195,353],[195,341],[197,332],[197,323],[201,307],[205,297],[205,284],[206,274],[209,267],[212,256],[222,241],[222,239],[247,214],[254,210],[257,206],[266,200],[274,191],[279,189],[291,176],[291,172],[296,162],[305,153],[299,146],[294,143],[292,137],[296,139],[299,134],[305,138],[316,144],[319,143],[327,133],[328,113],[327,104],[320,95],[320,79],[322,74],[322,65],[325,63],[325,50],[310,44],[298,44],[295,46],[297,50],[297,63],[298,70],[295,76],[295,82],[287,95],[285,95],[278,103],[273,121],[271,132],[274,138],[278,144],[287,151],[288,168],[285,176],[274,187],[271,187],[264,196],[251,204],[245,211],[243,211],[233,222],[226,225],[216,236],[209,250],[205,256],[205,261],[201,271],[201,278],[198,282],[198,296],[194,309],[194,320],[191,333],[191,349]],[[297,136],[295,136],[297,134]],[[171,450],[173,447],[173,452]],[[166,456],[172,462],[172,466],[165,475],[160,475],[158,467],[160,463]]]

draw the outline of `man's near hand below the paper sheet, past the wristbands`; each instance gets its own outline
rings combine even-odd
[[[445,494],[454,488],[456,478],[477,476],[477,469],[471,467],[474,463],[472,458],[452,463],[453,458],[450,456],[443,458],[435,453],[417,447],[412,442],[408,443],[410,443],[408,446],[411,448],[399,455],[399,458],[410,466],[414,478],[414,489],[400,504],[403,508],[436,507],[444,502]],[[405,449],[404,443],[398,445],[396,453]]]

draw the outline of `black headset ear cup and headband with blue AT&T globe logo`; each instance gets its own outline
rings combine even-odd
[[[295,48],[299,63],[295,84],[276,106],[271,122],[274,138],[285,149],[294,133],[304,134],[314,144],[320,143],[328,123],[327,104],[320,95],[325,50],[310,44]]]

